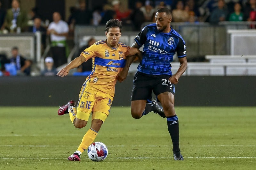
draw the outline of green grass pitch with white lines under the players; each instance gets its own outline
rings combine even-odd
[[[184,161],[174,161],[166,119],[133,119],[112,107],[95,141],[108,157],[68,161],[90,127],[76,129],[58,107],[0,107],[0,169],[255,169],[256,107],[176,107]]]

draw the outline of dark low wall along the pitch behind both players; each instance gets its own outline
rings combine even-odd
[[[1,77],[0,106],[59,106],[78,100],[85,77]],[[116,84],[113,106],[130,106],[133,77]],[[256,106],[255,76],[183,76],[176,106]]]

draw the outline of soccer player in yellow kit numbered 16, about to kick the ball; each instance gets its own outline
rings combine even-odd
[[[71,122],[76,128],[86,126],[92,113],[92,124],[84,135],[81,144],[68,160],[79,161],[80,155],[96,138],[102,123],[108,117],[114,98],[116,75],[125,65],[124,53],[128,46],[119,42],[122,23],[111,19],[106,23],[105,41],[98,41],[86,48],[79,57],[71,61],[58,72],[58,76],[68,75],[70,69],[76,68],[89,58],[92,58],[92,73],[86,78],[81,92],[77,111],[76,102],[71,100],[58,110],[59,115],[69,114]]]

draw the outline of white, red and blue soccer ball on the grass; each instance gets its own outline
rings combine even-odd
[[[108,148],[102,142],[94,142],[88,147],[88,157],[92,161],[102,161],[108,156]]]

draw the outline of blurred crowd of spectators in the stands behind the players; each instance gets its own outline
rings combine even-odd
[[[47,61],[54,63],[55,68],[67,62],[65,58],[56,58],[54,53],[59,56],[68,55],[66,40],[73,38],[76,25],[99,26],[105,25],[109,19],[119,19],[124,27],[129,25],[132,26],[132,31],[139,32],[143,23],[155,22],[156,10],[162,7],[172,10],[172,22],[208,22],[214,25],[220,21],[256,20],[256,0],[131,0],[126,6],[121,0],[106,0],[94,9],[88,8],[86,0],[74,0],[67,20],[58,11],[53,13],[52,18],[46,18],[44,13],[38,12],[36,6],[30,11],[25,11],[20,6],[20,1],[22,0],[12,0],[10,7],[4,9],[1,5],[3,0],[0,0],[0,34],[40,31],[42,49],[45,48],[45,37],[51,36],[52,48],[55,48],[52,50],[52,59],[48,58]],[[60,25],[60,22],[61,28],[65,28],[62,32],[56,31],[59,29],[57,23]],[[19,55],[18,50],[18,47],[12,48],[12,53],[14,51],[18,58],[13,54],[11,57],[0,54],[0,76],[8,76],[4,64],[11,62],[16,64],[18,72],[29,75],[28,68],[32,61],[28,63],[26,57]]]

